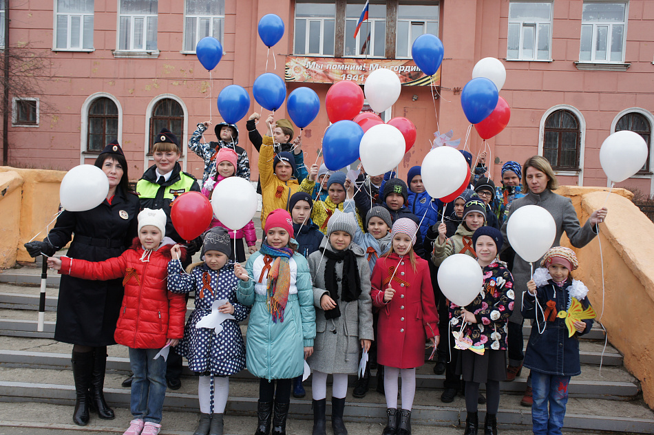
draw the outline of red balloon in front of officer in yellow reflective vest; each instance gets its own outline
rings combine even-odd
[[[184,240],[193,240],[209,228],[213,218],[211,202],[200,192],[187,192],[173,200],[170,220]]]

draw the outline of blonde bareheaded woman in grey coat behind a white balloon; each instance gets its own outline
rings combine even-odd
[[[553,191],[558,189],[558,181],[552,167],[545,157],[534,156],[523,165],[523,191],[527,193],[523,198],[511,202],[509,216],[502,226],[502,235],[505,246],[509,245],[507,237],[507,224],[511,215],[522,206],[538,205],[551,213],[556,223],[556,237],[552,246],[559,246],[561,236],[565,231],[572,246],[582,248],[597,235],[597,224],[606,218],[606,208],[593,212],[584,226],[580,226],[577,213],[570,198],[557,195]],[[537,263],[540,263],[540,259]],[[507,381],[513,381],[520,375],[523,368],[523,316],[520,307],[523,301],[523,292],[527,290],[527,282],[531,279],[531,267],[520,256],[516,255],[511,269],[514,278],[516,293],[516,306],[509,317],[507,345],[509,349],[509,367],[507,368]],[[527,383],[527,392],[522,405],[531,406],[531,386]]]

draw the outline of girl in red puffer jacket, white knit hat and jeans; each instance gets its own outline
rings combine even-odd
[[[164,238],[166,214],[144,209],[138,213],[138,239],[120,257],[87,262],[69,257],[49,257],[48,266],[59,273],[83,279],[124,277],[125,297],[114,339],[129,348],[131,414],[134,420],[124,435],[156,435],[166,396],[166,358],[155,356],[177,346],[184,335],[186,300],[166,289],[167,266],[174,242]],[[182,255],[186,255],[182,248]],[[167,352],[165,355],[167,355]]]

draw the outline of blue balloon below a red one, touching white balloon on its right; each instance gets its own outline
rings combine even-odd
[[[340,120],[330,125],[322,138],[322,157],[330,171],[338,171],[359,158],[363,129],[354,121]]]

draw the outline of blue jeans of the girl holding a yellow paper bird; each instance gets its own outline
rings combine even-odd
[[[569,382],[570,376],[556,376],[531,370],[531,388],[534,391],[531,423],[534,425],[534,435],[561,434],[565,405],[568,403]]]

